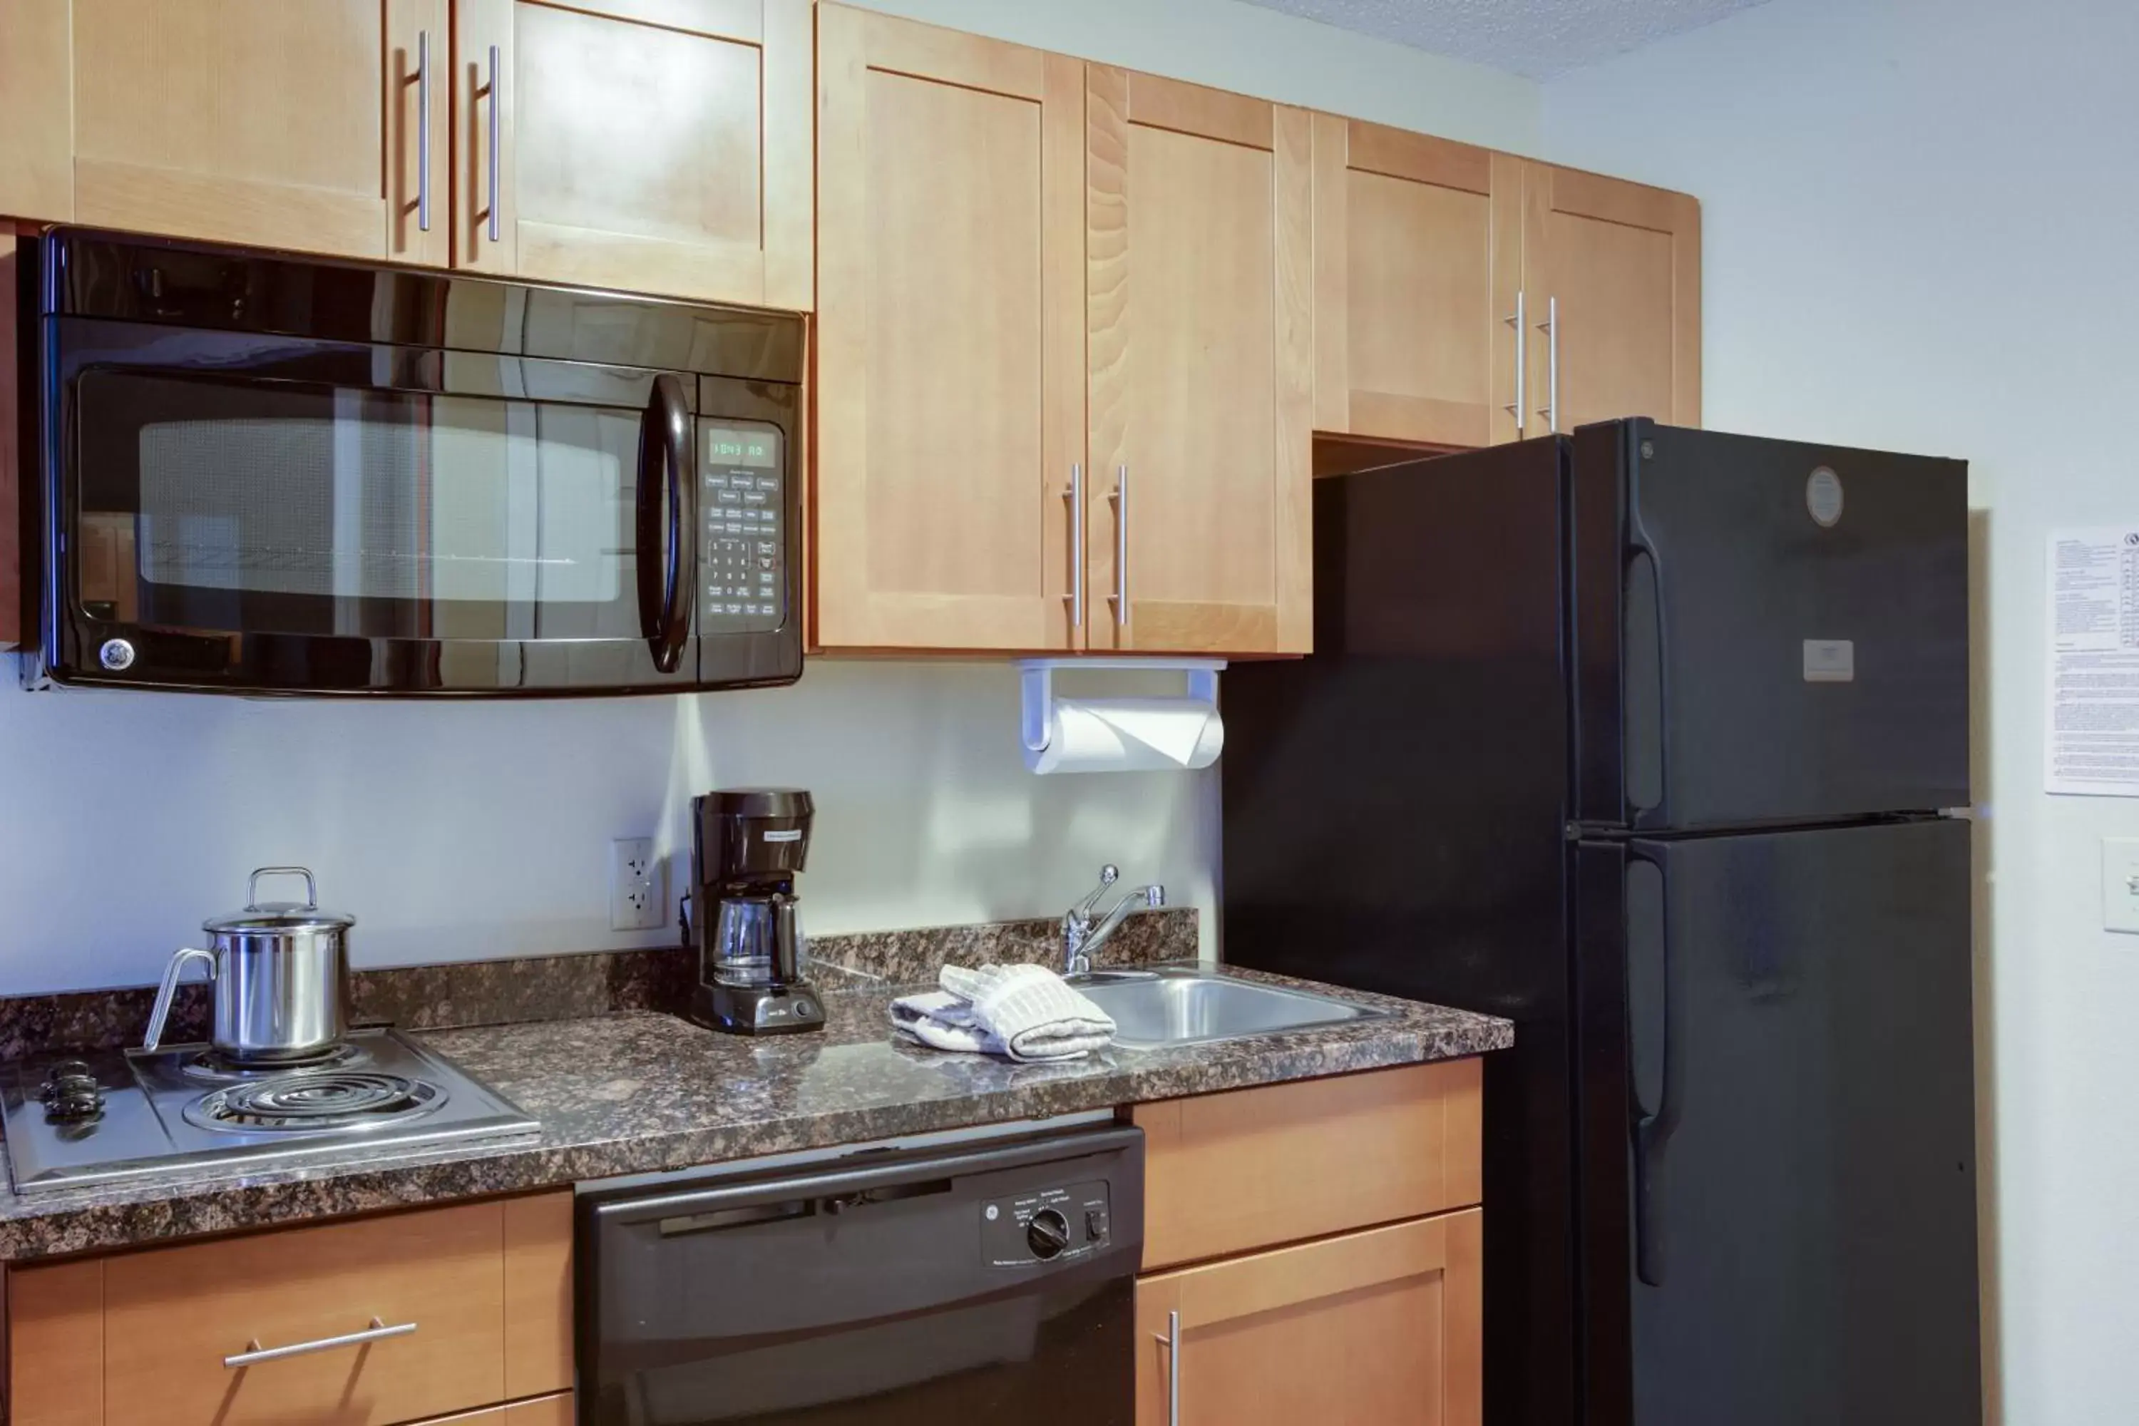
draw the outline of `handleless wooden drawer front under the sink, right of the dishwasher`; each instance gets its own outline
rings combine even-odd
[[[1480,1060],[1136,1105],[1144,1270],[1467,1208]]]

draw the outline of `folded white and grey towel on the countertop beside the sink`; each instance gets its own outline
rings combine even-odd
[[[1046,966],[943,966],[943,990],[892,1001],[892,1026],[937,1050],[1074,1060],[1114,1041],[1114,1022]]]

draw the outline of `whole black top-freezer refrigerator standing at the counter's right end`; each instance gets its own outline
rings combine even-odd
[[[1966,466],[1613,421],[1313,520],[1224,958],[1517,1022],[1487,1426],[1974,1426]]]

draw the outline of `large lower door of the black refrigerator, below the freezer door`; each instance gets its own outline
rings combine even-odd
[[[1981,1420],[1968,840],[1581,849],[1587,1426]]]

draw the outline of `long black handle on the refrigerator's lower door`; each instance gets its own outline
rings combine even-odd
[[[1664,868],[1641,851],[1626,868],[1626,1043],[1634,1154],[1634,1276],[1664,1285],[1664,1146],[1679,1125],[1681,1067],[1671,1052],[1675,958]]]

